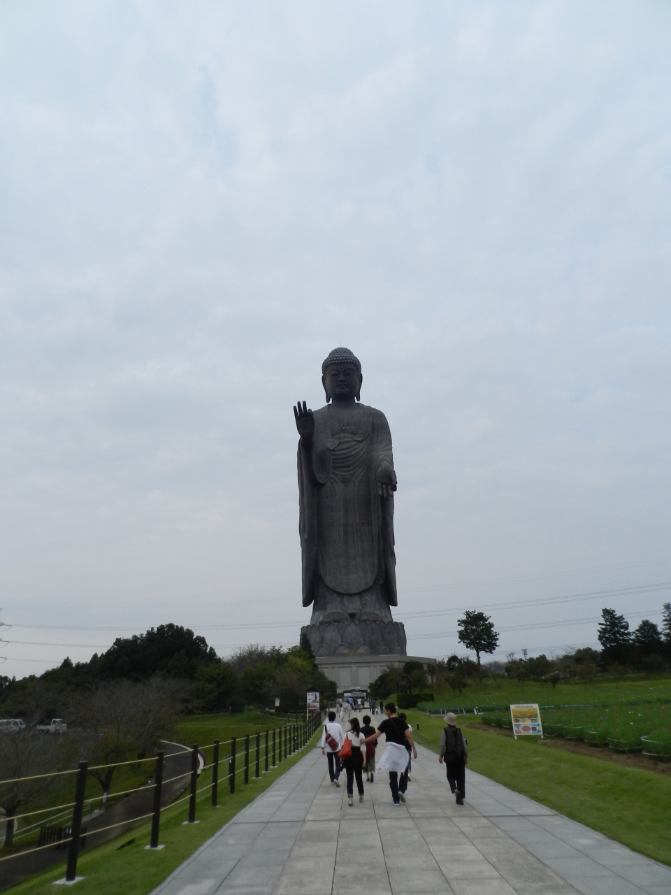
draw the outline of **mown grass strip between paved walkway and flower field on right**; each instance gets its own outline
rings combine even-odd
[[[443,720],[406,713],[420,723],[418,742],[437,751]],[[671,777],[463,727],[472,771],[671,865]]]

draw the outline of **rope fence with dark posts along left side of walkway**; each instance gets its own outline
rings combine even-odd
[[[184,824],[197,823],[196,813],[198,797],[210,790],[211,805],[217,806],[221,795],[222,785],[228,789],[230,795],[234,795],[236,782],[242,775],[242,786],[249,786],[252,780],[259,780],[264,773],[268,773],[280,766],[283,759],[297,754],[310,744],[310,740],[319,729],[321,723],[320,712],[310,712],[303,720],[289,721],[273,729],[265,731],[257,731],[255,734],[245,734],[243,737],[231,737],[227,740],[215,740],[207,746],[199,746],[194,743],[191,746],[184,746],[177,752],[166,755],[164,750],[159,750],[156,755],[148,758],[136,759],[134,761],[114,762],[108,764],[97,764],[89,767],[88,762],[81,762],[79,767],[71,768],[67,771],[55,771],[50,774],[38,774],[31,777],[19,777],[7,780],[0,780],[0,788],[14,783],[21,783],[26,780],[46,779],[49,777],[58,777],[64,774],[76,774],[74,787],[74,800],[66,802],[63,805],[52,805],[48,808],[37,809],[35,811],[25,812],[23,814],[13,814],[5,817],[4,821],[16,823],[20,819],[32,817],[38,814],[48,814],[52,812],[48,818],[31,823],[15,835],[15,840],[25,838],[39,832],[38,845],[33,848],[18,848],[10,854],[0,856],[0,863],[11,861],[15,857],[30,855],[35,852],[43,851],[47,848],[68,849],[67,869],[65,873],[66,882],[74,882],[77,875],[77,862],[81,848],[85,848],[87,838],[98,836],[100,833],[109,832],[117,828],[129,827],[132,824],[139,823],[143,820],[151,818],[151,833],[149,849],[162,848],[159,842],[161,816],[166,810],[171,812],[183,802],[188,802],[187,820]],[[241,742],[242,741],[242,742]],[[181,744],[174,744],[181,745]],[[228,747],[228,748],[226,748]],[[211,750],[211,761],[208,762],[208,756]],[[177,755],[190,754],[190,768],[188,771],[176,774],[164,780],[164,768],[166,758],[174,758]],[[138,765],[143,763],[154,763],[154,775],[148,783],[141,787],[124,789],[121,792],[114,793],[114,797],[123,797],[142,793],[152,793],[152,810],[143,812],[142,814],[132,814],[125,817],[117,823],[106,824],[106,826],[98,827],[90,822],[96,816],[94,805],[98,802],[105,803],[107,794],[99,797],[86,797],[86,785],[89,779],[90,771],[101,771],[110,768],[117,768],[123,765]],[[222,767],[223,766],[223,767]],[[211,780],[199,787],[199,778],[204,771],[211,771]],[[223,771],[220,772],[220,771]],[[188,778],[188,792],[186,795],[174,799],[171,798],[164,802],[165,787],[168,784],[176,783],[178,780]],[[227,783],[227,786],[226,786]],[[183,789],[182,789],[183,792]],[[121,804],[121,803],[117,803]],[[72,814],[70,814],[72,809]],[[88,814],[85,814],[85,809]],[[99,815],[98,815],[99,816]],[[68,823],[69,819],[69,823]],[[88,819],[88,825],[84,825],[83,821]]]

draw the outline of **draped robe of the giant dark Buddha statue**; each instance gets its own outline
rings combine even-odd
[[[320,578],[340,594],[378,585],[395,606],[394,499],[378,496],[379,467],[394,466],[385,414],[358,404],[313,416],[312,443],[298,446],[303,606]]]

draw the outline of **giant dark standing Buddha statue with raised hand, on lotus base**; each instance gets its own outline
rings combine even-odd
[[[302,630],[318,656],[405,654],[396,605],[396,475],[384,413],[361,404],[361,363],[335,348],[322,364],[327,405],[293,413],[301,439],[298,487]]]

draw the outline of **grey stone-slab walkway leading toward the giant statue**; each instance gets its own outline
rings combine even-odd
[[[347,805],[310,751],[152,895],[669,895],[671,869],[467,771],[454,804],[419,747],[405,805],[386,774]],[[380,754],[380,749],[378,749]]]

